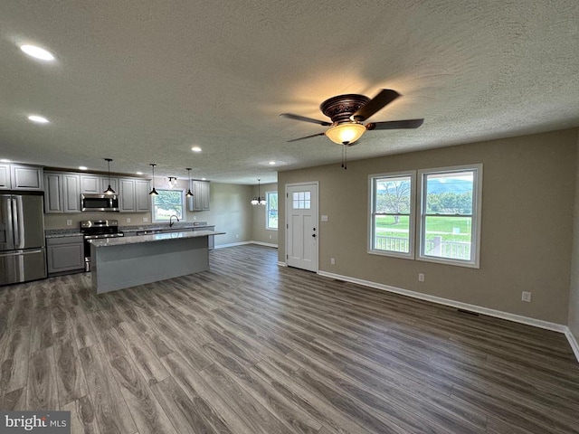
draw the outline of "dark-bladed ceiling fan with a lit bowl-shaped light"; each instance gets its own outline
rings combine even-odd
[[[400,96],[395,90],[383,89],[380,90],[373,99],[369,99],[365,95],[357,94],[338,95],[337,97],[326,99],[321,103],[319,109],[322,110],[324,115],[332,119],[331,122],[293,115],[291,113],[282,113],[280,116],[329,127],[323,133],[294,138],[288,140],[288,142],[295,142],[310,137],[327,136],[327,138],[337,145],[353,146],[356,145],[356,141],[362,137],[366,131],[372,131],[374,129],[417,128],[422,125],[424,119],[391,120],[387,122],[362,124],[366,119],[372,117],[375,112],[384,109],[384,107]]]

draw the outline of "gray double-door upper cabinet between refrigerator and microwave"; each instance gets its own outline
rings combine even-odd
[[[44,212],[81,212],[80,175],[46,172],[44,185]]]

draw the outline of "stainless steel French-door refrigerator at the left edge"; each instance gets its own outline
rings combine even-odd
[[[46,278],[42,193],[0,193],[0,285]]]

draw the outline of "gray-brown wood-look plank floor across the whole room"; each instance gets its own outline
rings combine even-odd
[[[159,266],[162,266],[161,264]],[[90,433],[576,433],[555,332],[211,252],[211,271],[101,296],[0,288],[0,409]]]

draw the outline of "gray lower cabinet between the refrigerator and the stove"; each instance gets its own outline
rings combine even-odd
[[[84,269],[84,240],[82,236],[47,238],[46,258],[49,274]]]

